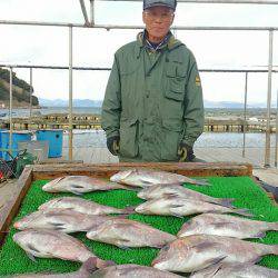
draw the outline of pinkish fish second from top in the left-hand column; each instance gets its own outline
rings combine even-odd
[[[128,215],[132,214],[135,208],[127,207],[125,209],[118,209],[91,200],[86,200],[79,197],[60,197],[51,199],[42,203],[39,207],[39,210],[49,210],[49,209],[71,209],[86,215]]]

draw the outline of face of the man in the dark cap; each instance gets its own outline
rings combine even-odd
[[[146,9],[142,12],[142,21],[149,37],[162,39],[170,29],[173,16],[172,9],[162,6]]]

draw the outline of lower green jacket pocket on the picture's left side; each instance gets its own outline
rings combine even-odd
[[[120,123],[120,156],[133,158],[138,155],[138,120],[121,120]]]

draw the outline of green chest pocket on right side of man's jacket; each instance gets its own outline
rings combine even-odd
[[[186,73],[178,64],[169,64],[166,70],[167,90],[166,98],[182,101],[186,90]]]

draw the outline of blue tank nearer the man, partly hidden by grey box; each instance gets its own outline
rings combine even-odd
[[[36,135],[38,141],[49,142],[49,158],[62,156],[62,129],[37,130]]]

